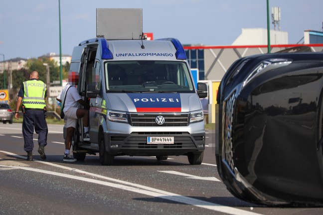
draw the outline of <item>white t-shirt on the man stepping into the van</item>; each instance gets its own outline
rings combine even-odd
[[[67,91],[67,89],[69,90]],[[66,91],[67,91],[67,95],[65,96]],[[67,84],[56,98],[62,101],[61,105],[63,105],[64,100],[66,100],[64,104],[64,110],[63,110],[64,112],[67,111],[70,107],[78,108],[80,103],[78,103],[77,101],[82,99],[80,94],[77,92],[76,87],[70,84]]]

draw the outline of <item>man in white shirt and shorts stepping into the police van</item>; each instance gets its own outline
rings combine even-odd
[[[76,159],[69,156],[72,145],[72,137],[76,128],[77,119],[83,117],[84,135],[83,141],[90,141],[89,134],[89,108],[90,105],[86,103],[77,91],[76,84],[78,83],[78,72],[68,72],[68,84],[62,89],[56,100],[64,104],[64,109],[61,110],[66,116],[66,139],[65,152],[63,161],[74,162]],[[64,103],[65,101],[65,103]],[[80,108],[83,105],[86,109]]]

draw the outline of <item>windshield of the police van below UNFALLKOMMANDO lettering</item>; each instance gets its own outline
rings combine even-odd
[[[105,63],[108,91],[192,93],[190,71],[178,61],[114,61]]]

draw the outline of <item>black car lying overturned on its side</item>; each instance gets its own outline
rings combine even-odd
[[[237,198],[323,206],[323,52],[253,55],[217,94],[216,163]]]

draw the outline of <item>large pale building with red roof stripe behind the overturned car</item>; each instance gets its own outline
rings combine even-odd
[[[288,44],[288,32],[270,30],[271,52],[305,44],[312,51],[323,51],[323,32],[305,30],[304,43]],[[199,80],[220,81],[235,60],[268,52],[267,29],[242,28],[241,34],[231,45],[184,45],[184,49],[190,67],[199,71]]]

